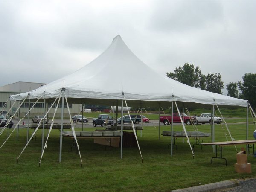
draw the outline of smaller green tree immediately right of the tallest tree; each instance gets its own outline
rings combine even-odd
[[[205,77],[205,90],[222,94],[221,89],[224,88],[224,83],[221,81],[221,74],[209,74]]]

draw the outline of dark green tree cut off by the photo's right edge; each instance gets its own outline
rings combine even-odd
[[[238,82],[238,87],[241,90],[241,99],[247,99],[253,109],[256,108],[256,73],[245,73],[243,76],[244,82]]]

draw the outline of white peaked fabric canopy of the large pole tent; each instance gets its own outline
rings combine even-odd
[[[113,105],[125,96],[130,106],[170,106],[171,101],[187,107],[247,106],[247,100],[200,90],[160,75],[140,61],[120,35],[105,52],[81,69],[10,99],[23,100],[29,94],[29,99],[50,102],[60,95],[63,87],[70,103]]]

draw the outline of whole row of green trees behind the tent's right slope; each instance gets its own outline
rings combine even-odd
[[[174,73],[167,72],[167,77],[175,79],[183,84],[207,90],[212,93],[222,94],[224,82],[221,81],[220,73],[208,73],[204,75],[198,66],[185,63],[183,66],[175,68]],[[226,85],[227,96],[247,99],[253,108],[256,108],[256,73],[245,73],[243,82],[230,82]]]

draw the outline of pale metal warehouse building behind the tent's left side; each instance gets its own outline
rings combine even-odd
[[[10,95],[15,95],[18,93],[25,93],[30,90],[35,90],[38,87],[41,87],[42,85],[45,85],[45,83],[32,83],[32,82],[16,82],[12,84],[7,84],[5,86],[0,87],[0,109],[4,106],[6,101],[9,99]],[[32,107],[34,103],[30,102],[30,106]],[[8,111],[10,107],[13,105],[13,101],[10,102],[8,100],[7,106],[3,108],[3,110]],[[12,106],[12,111],[11,114],[15,113],[17,110],[18,106],[20,105],[20,101],[16,102]],[[49,107],[51,104],[47,104]],[[46,108],[48,107],[46,106]],[[70,113],[73,114],[78,114],[81,112],[81,104],[69,104],[70,108]],[[66,109],[66,110],[65,110]],[[49,113],[49,117],[53,116],[54,109],[51,109]],[[24,102],[21,107],[20,107],[20,116],[23,117],[27,112],[29,111],[29,102]],[[57,114],[56,116],[60,116],[61,113],[61,108],[58,106]],[[18,113],[17,113],[18,114]],[[35,115],[43,115],[44,114],[44,103],[36,103],[34,108],[31,110],[30,116],[35,116]],[[68,117],[68,111],[67,111],[67,106],[64,106],[64,116]]]

